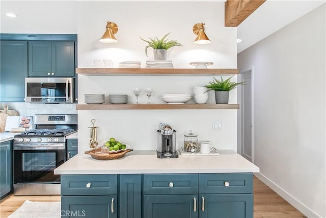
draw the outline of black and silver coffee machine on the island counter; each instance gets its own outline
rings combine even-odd
[[[177,158],[176,131],[170,126],[163,126],[157,130],[157,157],[158,158]]]

